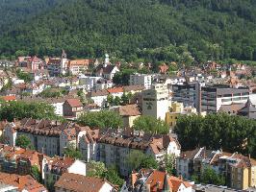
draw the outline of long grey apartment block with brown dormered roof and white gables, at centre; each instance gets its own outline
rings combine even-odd
[[[116,165],[122,176],[128,176],[132,168],[127,162],[128,156],[136,150],[153,156],[159,163],[163,162],[166,154],[179,156],[178,141],[168,135],[142,135],[121,137],[117,134],[106,133],[98,139],[99,160],[107,167]]]

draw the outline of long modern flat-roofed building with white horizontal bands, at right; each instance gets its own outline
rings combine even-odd
[[[249,99],[248,87],[231,88],[226,85],[214,85],[201,87],[200,101],[201,111],[218,112],[221,106],[231,104],[245,104]]]

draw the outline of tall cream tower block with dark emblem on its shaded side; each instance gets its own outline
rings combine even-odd
[[[165,120],[169,106],[169,93],[165,84],[154,84],[151,89],[142,91],[142,115]]]

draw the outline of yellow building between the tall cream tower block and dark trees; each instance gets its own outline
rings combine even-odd
[[[196,108],[188,107],[184,108],[182,103],[174,102],[171,104],[171,108],[166,112],[166,124],[171,128],[174,128],[181,114],[196,114]]]

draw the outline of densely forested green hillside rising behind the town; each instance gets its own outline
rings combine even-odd
[[[0,16],[2,57],[256,60],[255,0],[0,0]]]

